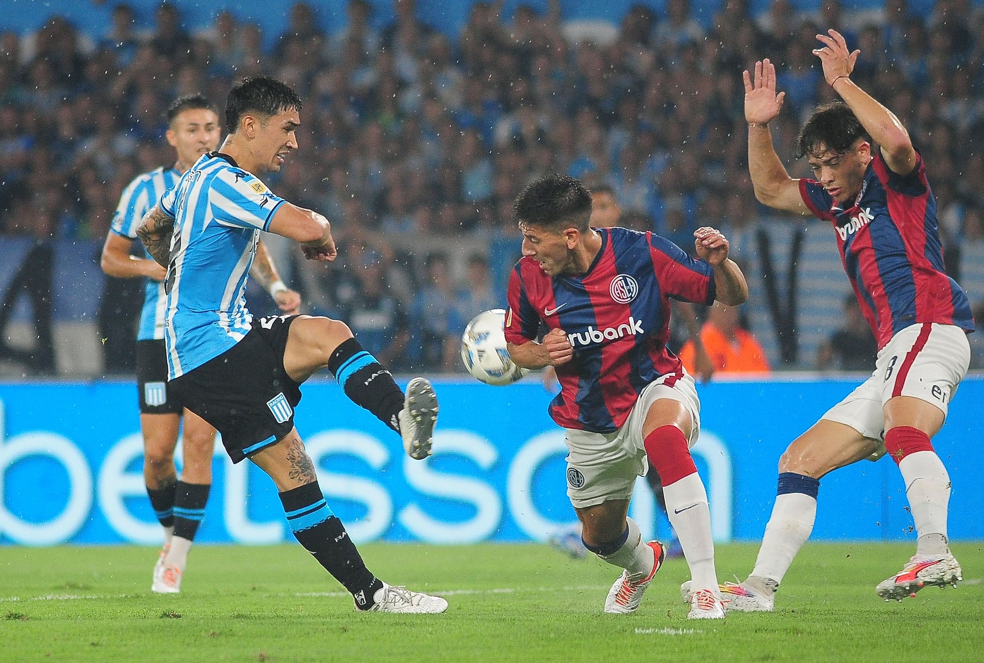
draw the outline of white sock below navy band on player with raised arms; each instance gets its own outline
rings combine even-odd
[[[804,493],[776,496],[752,575],[782,582],[796,553],[810,538],[816,519],[817,498]]]

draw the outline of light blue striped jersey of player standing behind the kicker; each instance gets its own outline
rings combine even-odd
[[[174,188],[179,177],[181,174],[173,167],[155,168],[135,177],[123,190],[120,204],[113,213],[112,231],[121,237],[137,239],[137,228],[144,214],[157,204],[165,191]],[[143,249],[143,255],[151,259],[147,249]],[[164,337],[164,299],[164,284],[148,278],[144,286],[144,309],[140,314],[137,340]]]

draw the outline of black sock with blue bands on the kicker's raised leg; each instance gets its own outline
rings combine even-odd
[[[403,392],[393,381],[393,375],[359,341],[354,338],[342,341],[328,360],[328,370],[352,402],[400,432],[397,415],[403,409]]]

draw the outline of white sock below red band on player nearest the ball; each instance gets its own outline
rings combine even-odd
[[[712,589],[717,594],[710,508],[701,475],[694,472],[663,486],[663,497],[666,499],[666,514],[687,558],[694,588]]]

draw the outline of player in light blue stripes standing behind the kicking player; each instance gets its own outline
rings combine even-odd
[[[202,154],[218,147],[221,126],[215,106],[202,94],[178,97],[168,106],[165,118],[165,138],[176,154],[174,164],[139,175],[127,185],[102,247],[101,267],[117,278],[147,277],[137,331],[137,388],[144,437],[144,481],[164,539],[154,565],[151,589],[157,593],[176,593],[181,588],[188,551],[205,517],[212,487],[215,428],[182,407],[167,388],[164,268],[147,253],[143,257],[133,256],[131,250],[144,214]],[[281,311],[297,313],[300,295],[280,280],[262,243],[257,249],[253,273],[270,291]],[[174,450],[182,418],[184,462],[178,479]]]

